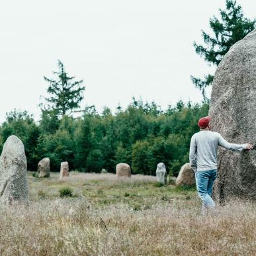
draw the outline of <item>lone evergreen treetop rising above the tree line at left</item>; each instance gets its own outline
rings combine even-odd
[[[50,83],[47,92],[52,95],[51,97],[44,98],[46,100],[46,105],[43,107],[43,111],[54,112],[58,116],[63,116],[64,114],[71,114],[72,112],[77,112],[79,108],[79,103],[83,99],[83,91],[85,87],[81,87],[80,81],[73,81],[75,77],[69,77],[65,71],[64,64],[58,61],[58,72],[53,72],[58,76],[57,79],[49,79],[44,77],[45,81]],[[79,111],[78,111],[79,112]]]

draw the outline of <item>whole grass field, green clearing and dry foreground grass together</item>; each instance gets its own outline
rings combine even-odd
[[[1,207],[1,255],[256,255],[256,210],[230,202],[202,216],[192,188],[155,177],[28,173],[30,204]],[[60,190],[72,196],[60,197]]]

